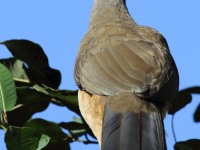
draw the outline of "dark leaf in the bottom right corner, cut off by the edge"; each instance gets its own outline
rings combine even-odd
[[[200,150],[200,140],[191,139],[184,142],[178,142],[174,146],[175,150]]]

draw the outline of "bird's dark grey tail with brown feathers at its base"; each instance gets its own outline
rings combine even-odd
[[[105,106],[101,150],[166,150],[160,111],[131,93],[110,96]]]

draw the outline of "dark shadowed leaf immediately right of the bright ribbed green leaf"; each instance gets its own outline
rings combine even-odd
[[[9,124],[15,126],[22,126],[33,114],[45,110],[51,99],[29,87],[17,88],[17,96],[17,106],[7,113]]]

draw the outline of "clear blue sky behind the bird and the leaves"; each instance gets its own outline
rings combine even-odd
[[[0,41],[28,39],[40,44],[51,67],[62,73],[60,89],[77,89],[73,67],[79,42],[87,32],[93,0],[1,0]],[[127,0],[130,14],[140,25],[160,31],[167,39],[180,74],[180,89],[200,85],[200,1],[190,0]],[[0,58],[9,56],[0,46]],[[193,96],[191,105],[175,116],[177,140],[198,138],[200,125],[192,115],[200,96]],[[55,111],[56,110],[56,111]],[[34,117],[50,121],[69,121],[74,114],[53,105]],[[168,149],[173,149],[171,116],[165,119]],[[0,149],[6,150],[4,132],[0,131]],[[97,150],[97,145],[74,143],[72,150]]]

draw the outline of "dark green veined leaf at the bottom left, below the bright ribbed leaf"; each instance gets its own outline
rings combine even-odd
[[[10,127],[5,135],[8,150],[35,150],[38,147],[40,135],[34,130],[23,127]]]

